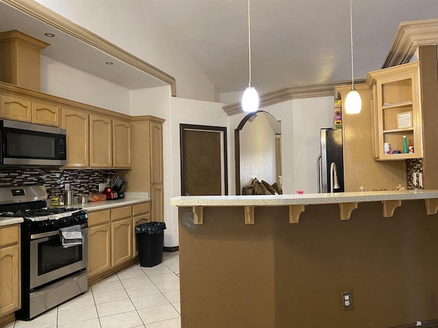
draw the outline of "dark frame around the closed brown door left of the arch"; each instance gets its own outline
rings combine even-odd
[[[227,152],[227,127],[224,126],[209,126],[209,125],[194,125],[194,124],[179,124],[179,148],[180,148],[180,161],[181,161],[181,195],[185,191],[185,131],[208,131],[222,133],[222,186],[223,194],[228,195],[228,152]]]

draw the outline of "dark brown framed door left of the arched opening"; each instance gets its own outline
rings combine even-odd
[[[227,130],[181,124],[181,195],[227,195]]]

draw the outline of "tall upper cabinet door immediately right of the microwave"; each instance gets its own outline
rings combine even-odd
[[[61,127],[66,129],[68,167],[88,167],[88,113],[63,108]]]

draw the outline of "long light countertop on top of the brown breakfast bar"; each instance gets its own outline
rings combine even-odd
[[[170,205],[188,206],[287,206],[379,202],[385,200],[426,200],[438,198],[438,190],[362,191],[355,193],[308,193],[302,195],[180,196]]]

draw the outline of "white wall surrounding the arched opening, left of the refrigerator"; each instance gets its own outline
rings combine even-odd
[[[320,154],[320,128],[333,127],[333,101],[333,96],[301,98],[260,109],[281,121],[283,193],[291,194],[296,190],[305,193],[318,192],[316,159]],[[229,118],[232,144],[234,129],[245,115],[246,113],[240,113]],[[234,152],[229,155],[231,163],[234,163]],[[234,164],[230,169],[230,175],[234,176]],[[235,193],[235,188],[233,192]]]

